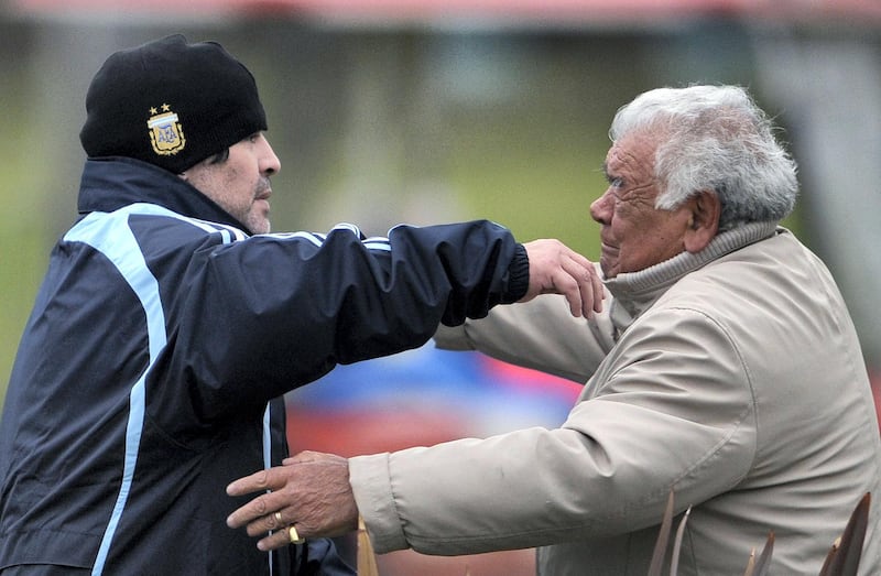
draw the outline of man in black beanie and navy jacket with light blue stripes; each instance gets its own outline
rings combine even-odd
[[[248,69],[168,36],[86,97],[76,224],[56,244],[0,421],[0,574],[348,575],[331,541],[261,552],[226,486],[286,456],[282,395],[443,322],[544,292],[600,309],[590,262],[472,221],[269,233],[281,164]]]

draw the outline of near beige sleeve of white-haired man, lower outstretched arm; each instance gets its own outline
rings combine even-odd
[[[692,311],[632,326],[563,426],[358,456],[349,478],[378,553],[470,554],[627,533],[740,481],[755,457],[748,372]]]

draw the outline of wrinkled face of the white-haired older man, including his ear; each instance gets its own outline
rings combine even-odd
[[[607,279],[637,272],[685,250],[684,238],[692,213],[654,207],[659,194],[654,180],[656,141],[646,134],[618,140],[606,155],[609,187],[590,205],[590,216],[601,225],[600,268]]]

